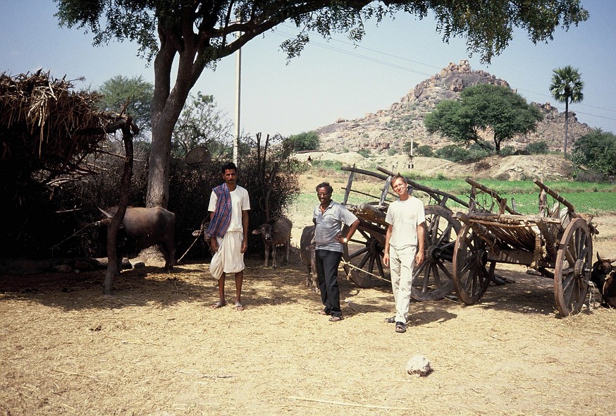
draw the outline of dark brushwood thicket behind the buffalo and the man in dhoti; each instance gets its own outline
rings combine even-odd
[[[263,148],[264,146],[261,146],[261,149]],[[238,183],[250,194],[251,228],[263,224],[265,219],[264,183],[269,183],[271,188],[276,190],[271,192],[269,197],[270,217],[274,218],[283,214],[299,193],[297,174],[302,168],[299,161],[290,157],[292,149],[281,137],[271,139],[266,164],[264,167],[261,166],[261,169],[257,166],[256,149],[254,139],[245,138],[240,142]],[[109,152],[123,154],[123,149],[111,143]],[[140,142],[135,142],[135,162],[129,200],[129,204],[135,207],[145,206],[148,153],[147,144],[142,145]],[[168,209],[175,213],[175,249],[178,252],[178,258],[195,240],[192,237],[192,231],[199,228],[202,219],[207,216],[211,188],[222,183],[220,168],[225,161],[230,159],[230,148],[226,147],[226,151],[218,154],[218,157],[212,161],[196,164],[189,164],[184,158],[174,158],[171,161]],[[118,183],[123,159],[111,157],[109,154],[99,154],[92,163],[104,167],[104,170],[82,181],[66,183],[61,189],[56,190],[51,200],[44,188],[31,192],[32,197],[38,195],[37,200],[40,201],[36,204],[39,211],[36,219],[44,221],[44,224],[37,224],[39,234],[32,234],[27,239],[21,238],[20,241],[23,241],[24,245],[16,246],[16,250],[7,254],[14,257],[18,255],[49,257],[51,254],[54,256],[106,256],[105,242],[99,237],[99,231],[92,227],[68,238],[81,228],[75,221],[73,215],[75,210],[81,221],[91,223],[100,219],[101,214],[97,207],[107,208],[118,204]],[[66,238],[68,240],[51,253],[49,247]],[[8,239],[6,241],[8,242]],[[255,240],[249,243],[250,251],[259,251],[259,244],[261,244],[259,239],[255,237]],[[205,255],[205,251],[192,250],[187,257],[196,255]]]

